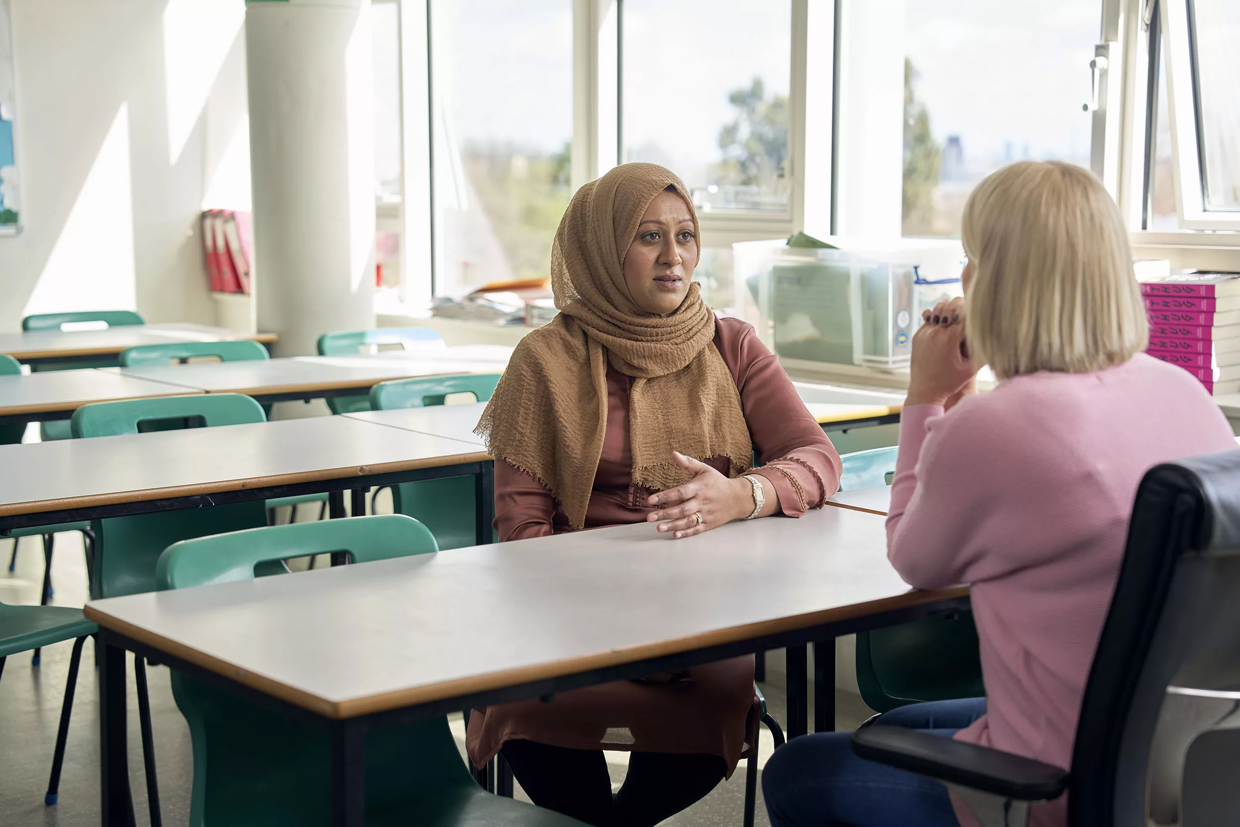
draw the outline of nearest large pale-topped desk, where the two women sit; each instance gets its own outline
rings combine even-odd
[[[906,586],[887,562],[883,521],[843,508],[680,541],[637,523],[95,600],[86,615],[104,643],[103,823],[131,823],[125,650],[325,727],[332,821],[352,827],[362,823],[367,729],[832,646],[837,635],[965,608],[965,588]],[[833,681],[816,688],[818,714],[833,713]],[[804,696],[790,698],[792,734],[805,732]]]

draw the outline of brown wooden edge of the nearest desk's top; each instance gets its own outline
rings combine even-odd
[[[179,657],[188,663],[193,663],[217,674],[222,674],[231,681],[258,689],[264,694],[286,701],[326,718],[341,720],[368,715],[377,712],[387,712],[389,709],[401,709],[423,703],[444,701],[477,692],[520,686],[533,681],[564,677],[609,666],[621,666],[666,655],[680,655],[683,652],[708,648],[711,646],[733,643],[737,641],[764,637],[766,635],[818,626],[831,621],[863,617],[866,615],[879,614],[894,609],[911,608],[928,603],[937,603],[940,600],[963,598],[967,595],[968,586],[963,585],[952,586],[950,589],[937,589],[934,591],[910,590],[894,598],[883,598],[880,600],[872,600],[864,604],[837,606],[835,609],[811,611],[790,617],[776,617],[774,620],[745,624],[743,626],[719,629],[702,635],[652,643],[641,643],[629,648],[610,650],[570,660],[505,670],[502,672],[490,672],[466,678],[458,678],[454,681],[413,687],[409,689],[384,692],[365,698],[351,698],[347,701],[329,701],[326,698],[320,698],[319,696],[290,687],[285,683],[280,683],[279,681],[269,678],[264,674],[257,674],[248,670],[242,670],[233,663],[205,655],[203,652],[200,652],[190,646],[185,646],[184,643],[169,640],[140,626],[134,626],[118,617],[113,617],[107,613],[99,611],[93,605],[87,605],[84,613],[88,620],[97,622],[99,626],[109,631],[118,632],[140,643],[153,646],[154,648],[157,648],[167,655],[172,655],[174,657]]]

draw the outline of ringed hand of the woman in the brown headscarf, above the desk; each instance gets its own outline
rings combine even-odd
[[[658,531],[675,532],[672,537],[692,537],[717,528],[733,520],[748,517],[754,510],[753,486],[744,479],[728,479],[706,462],[672,451],[672,459],[693,479],[684,485],[651,495],[650,505],[666,506],[646,516],[646,522],[660,522]],[[701,520],[694,517],[701,515]]]

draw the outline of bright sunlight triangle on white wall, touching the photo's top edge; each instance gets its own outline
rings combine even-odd
[[[176,164],[246,22],[244,0],[169,0],[164,9],[167,157]]]

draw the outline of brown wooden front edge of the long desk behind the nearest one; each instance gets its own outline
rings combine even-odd
[[[446,438],[444,438],[446,439]],[[459,440],[454,440],[459,441]],[[461,443],[469,445],[469,443]],[[444,465],[459,465],[461,462],[486,462],[491,456],[486,451],[463,451],[450,456],[435,456],[422,460],[402,460],[399,462],[378,462],[376,465],[347,465],[336,469],[322,469],[319,471],[304,471],[300,474],[278,474],[274,476],[243,477],[237,480],[221,480],[217,482],[203,482],[196,485],[177,485],[165,489],[145,489],[141,491],[115,491],[94,496],[69,497],[61,500],[35,500],[27,502],[11,502],[0,505],[0,517],[14,515],[35,515],[45,511],[66,511],[69,508],[89,508],[92,506],[108,506],[119,502],[145,502],[148,500],[165,500],[171,497],[187,497],[200,493],[219,493],[222,491],[243,491],[246,489],[268,489],[277,485],[294,485],[298,482],[321,482],[324,480],[347,480],[353,476],[370,476],[374,474],[389,474],[393,471],[412,471],[425,467],[441,467]],[[24,506],[43,506],[30,508]]]

